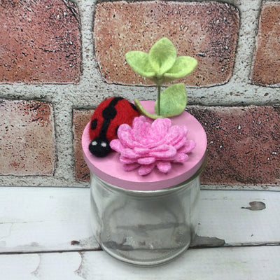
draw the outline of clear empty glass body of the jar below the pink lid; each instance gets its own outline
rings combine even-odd
[[[104,251],[134,265],[160,265],[195,237],[200,177],[172,188],[125,190],[91,173],[91,223]]]

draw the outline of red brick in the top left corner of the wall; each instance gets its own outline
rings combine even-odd
[[[0,3],[0,83],[78,83],[78,10],[70,0]]]

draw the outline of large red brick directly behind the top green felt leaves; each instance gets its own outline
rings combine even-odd
[[[228,3],[105,1],[95,12],[95,55],[108,83],[148,84],[126,64],[125,53],[148,52],[166,36],[178,55],[198,60],[195,71],[178,82],[223,84],[232,76],[238,31],[239,12]]]

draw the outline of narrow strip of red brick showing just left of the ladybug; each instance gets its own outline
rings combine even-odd
[[[83,160],[81,139],[85,125],[90,121],[93,110],[73,110],[73,151],[74,151],[74,176],[77,181],[89,181],[90,169]]]

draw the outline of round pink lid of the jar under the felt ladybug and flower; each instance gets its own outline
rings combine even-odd
[[[149,113],[155,112],[153,109],[155,102],[142,101],[141,104]],[[103,181],[127,190],[160,190],[176,186],[190,179],[204,162],[207,151],[207,136],[197,119],[186,111],[170,119],[172,125],[186,125],[188,140],[193,140],[196,143],[193,151],[188,153],[189,158],[186,162],[172,163],[172,169],[167,174],[159,172],[156,167],[145,176],[139,175],[137,169],[125,172],[123,164],[119,160],[119,153],[111,151],[105,158],[97,158],[90,153],[88,148],[90,145],[90,123],[87,123],[83,131],[82,146],[85,162],[90,171]]]

